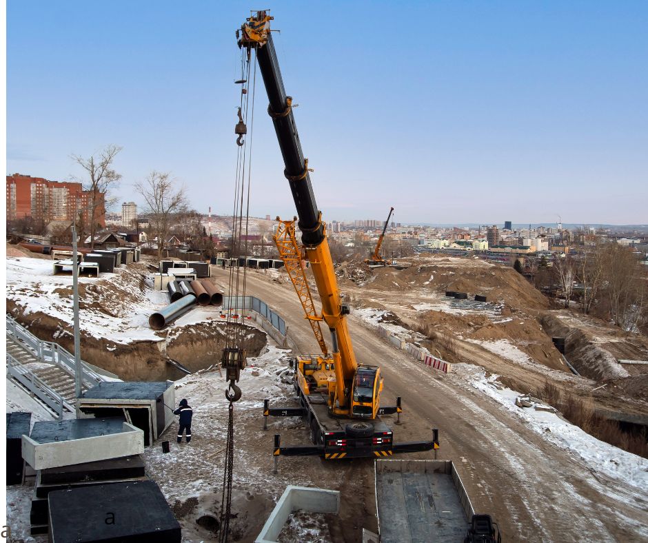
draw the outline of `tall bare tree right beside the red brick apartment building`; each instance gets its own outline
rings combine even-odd
[[[118,145],[108,145],[97,158],[94,155],[90,158],[83,158],[77,154],[72,155],[72,159],[79,164],[89,178],[83,181],[83,190],[90,193],[90,202],[88,209],[90,212],[90,248],[94,249],[94,234],[97,232],[97,221],[105,215],[105,210],[110,208],[114,203],[114,198],[108,198],[110,190],[116,188],[121,174],[112,169],[112,162],[123,147]],[[81,232],[83,236],[83,232]]]

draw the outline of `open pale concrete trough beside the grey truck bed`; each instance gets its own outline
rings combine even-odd
[[[255,543],[276,542],[290,513],[298,510],[337,514],[340,512],[340,493],[336,490],[312,489],[289,484],[276,502]]]

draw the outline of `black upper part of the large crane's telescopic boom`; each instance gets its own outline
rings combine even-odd
[[[263,47],[256,49],[256,59],[259,61],[261,76],[263,76],[267,97],[270,100],[268,113],[274,123],[274,130],[285,164],[284,174],[290,184],[292,198],[297,208],[302,242],[304,245],[314,247],[324,240],[324,228],[320,221],[310,175],[305,165],[297,126],[292,114],[292,107],[290,107],[292,99],[286,96],[283,88],[279,62],[276,58],[274,43],[272,43],[272,34],[268,34],[267,43]]]

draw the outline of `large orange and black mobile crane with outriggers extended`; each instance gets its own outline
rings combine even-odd
[[[317,321],[318,325],[323,322],[330,331],[332,343],[330,354],[323,349],[321,354],[297,356],[292,360],[295,366],[294,387],[301,407],[271,409],[269,400],[264,402],[264,428],[267,428],[268,416],[304,416],[311,431],[312,447],[281,447],[280,436],[275,435],[275,460],[279,455],[321,455],[325,459],[336,459],[438,449],[437,430],[433,431],[429,441],[393,442],[392,430],[380,415],[398,413],[400,418],[401,399],[397,398],[396,406],[380,407],[383,390],[380,367],[356,362],[346,322],[350,309],[341,300],[326,224],[315,202],[311,170],[297,134],[292,97],[287,96],[281,78],[270,34],[272,19],[266,11],[253,12],[252,17],[247,18],[236,31],[236,38],[239,48],[247,49],[248,59],[252,50],[256,52],[270,101],[267,112],[279,140],[285,164],[284,175],[294,199],[303,247],[296,247],[294,221],[282,221],[285,226],[283,240],[290,240],[286,247],[293,246],[292,256],[296,251],[301,252],[310,263],[321,298],[321,314],[317,315],[313,309],[307,318]],[[281,247],[279,249],[281,253]],[[284,256],[287,258],[286,254]],[[295,287],[297,289],[298,285]],[[304,299],[302,303],[305,303]],[[306,309],[307,305],[304,307]],[[322,347],[322,338],[319,337],[318,341]]]

